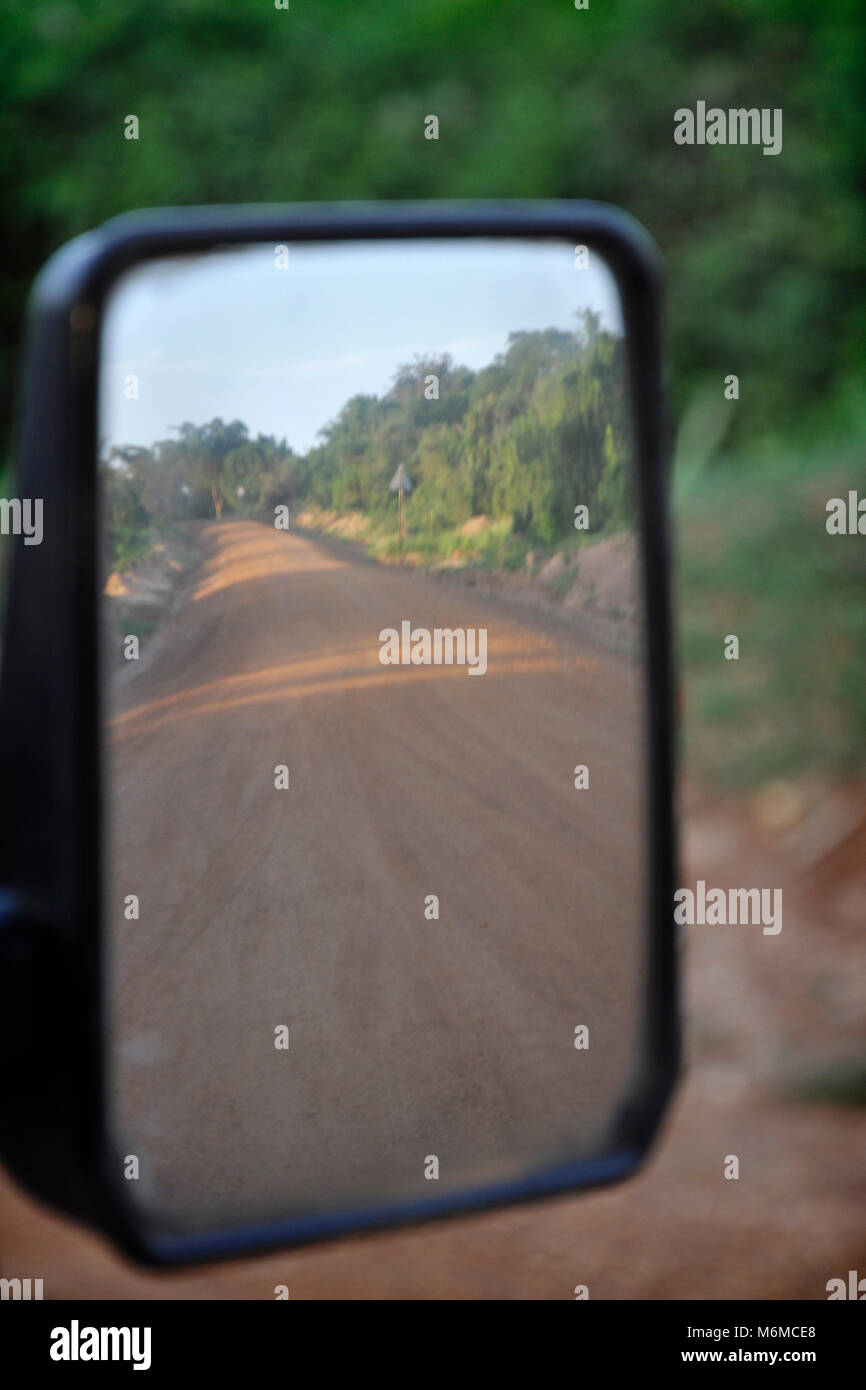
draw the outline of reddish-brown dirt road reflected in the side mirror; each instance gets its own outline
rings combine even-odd
[[[442,1191],[588,1148],[634,1056],[638,669],[257,523],[200,543],[113,691],[118,1148],[142,1201],[195,1227],[425,1193],[431,1155]],[[487,628],[485,674],[381,664],[402,620]]]

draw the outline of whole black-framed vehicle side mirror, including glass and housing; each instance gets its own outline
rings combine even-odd
[[[631,1175],[678,1066],[656,254],[135,214],[33,293],[0,1152],[181,1264]]]

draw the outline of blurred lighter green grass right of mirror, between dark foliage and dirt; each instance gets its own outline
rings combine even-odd
[[[678,495],[684,752],[703,780],[866,767],[866,538],[824,524],[827,500],[862,478],[859,445],[771,442]],[[738,660],[723,656],[728,634]]]

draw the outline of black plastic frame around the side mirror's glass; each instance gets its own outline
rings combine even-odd
[[[623,300],[642,531],[648,698],[645,1042],[609,1148],[514,1183],[157,1237],[125,1200],[104,1123],[100,952],[97,374],[101,307],[133,264],[252,242],[534,238],[585,245]],[[642,1162],[680,1068],[673,920],[673,682],[662,277],[644,229],[598,203],[377,203],[153,210],[70,242],[31,302],[15,493],[43,498],[44,537],[13,552],[0,681],[0,1156],[53,1207],[132,1258],[181,1265],[455,1215],[624,1179]]]

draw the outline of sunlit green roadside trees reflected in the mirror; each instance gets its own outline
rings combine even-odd
[[[239,420],[185,423],[177,439],[150,449],[115,448],[103,466],[110,556],[128,557],[136,530],[154,523],[220,520],[224,510],[272,520],[278,503],[354,510],[393,530],[389,482],[400,463],[413,482],[413,548],[424,535],[438,557],[460,549],[460,527],[477,509],[506,523],[493,532],[498,553],[506,535],[525,548],[567,537],[578,502],[591,506],[595,531],[624,527],[632,517],[624,370],[621,339],[584,313],[573,334],[512,334],[478,373],[450,357],[399,367],[381,399],[348,400],[304,457],[285,441],[250,439]],[[427,392],[431,374],[438,399]],[[518,549],[507,548],[509,563]]]

